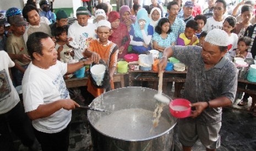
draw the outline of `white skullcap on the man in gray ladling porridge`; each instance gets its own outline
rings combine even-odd
[[[224,30],[214,29],[206,34],[204,41],[214,45],[227,46],[228,34]]]

